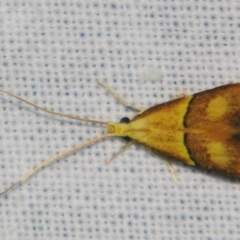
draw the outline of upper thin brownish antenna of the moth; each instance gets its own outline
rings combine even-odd
[[[80,118],[80,117],[77,117],[77,116],[71,116],[71,115],[68,115],[68,114],[64,114],[64,113],[59,113],[59,112],[54,112],[54,111],[51,111],[51,110],[47,110],[45,108],[42,108],[34,103],[31,103],[21,97],[18,97],[10,92],[7,92],[3,89],[0,89],[0,92],[1,93],[4,93],[8,96],[11,96],[21,102],[24,102],[25,104],[27,105],[30,105],[31,107],[33,108],[36,108],[37,110],[40,110],[42,112],[45,112],[45,113],[49,113],[49,114],[52,114],[52,115],[56,115],[56,116],[60,116],[60,117],[65,117],[65,118],[69,118],[69,119],[74,119],[74,120],[77,120],[77,121],[82,121],[82,122],[89,122],[89,123],[96,123],[96,124],[102,124],[102,125],[108,125],[108,122],[105,122],[105,121],[99,121],[99,120],[93,120],[93,119],[87,119],[87,118]]]

